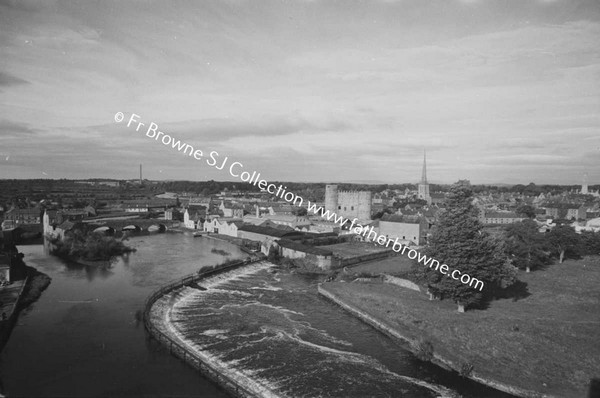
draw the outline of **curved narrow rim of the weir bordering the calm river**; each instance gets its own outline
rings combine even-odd
[[[186,347],[179,341],[176,341],[172,337],[168,336],[166,333],[159,330],[158,327],[152,324],[150,311],[157,300],[176,289],[183,288],[184,286],[189,286],[190,284],[200,281],[208,276],[216,275],[226,271],[231,271],[233,269],[240,268],[259,261],[263,261],[263,259],[255,258],[253,260],[239,260],[232,263],[224,264],[222,266],[217,266],[213,269],[199,271],[197,273],[184,276],[183,278],[177,279],[176,281],[170,282],[166,285],[159,287],[156,291],[150,294],[150,296],[146,299],[146,302],[144,304],[144,327],[146,328],[151,337],[153,337],[156,341],[165,346],[169,350],[169,353],[182,359],[193,369],[198,371],[198,373],[209,378],[231,395],[239,398],[258,398],[262,395],[258,394],[256,390],[249,385],[249,383],[246,384],[241,380],[236,380],[233,377],[228,377],[227,372],[225,372],[223,369],[220,369],[218,366],[215,366],[215,364],[211,363],[201,355],[198,355],[189,347]]]

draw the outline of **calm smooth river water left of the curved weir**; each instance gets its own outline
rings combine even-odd
[[[245,254],[182,234],[131,238],[128,244],[137,252],[110,268],[66,264],[43,245],[19,247],[25,262],[52,283],[20,314],[0,355],[3,394],[226,396],[148,340],[136,313],[155,287]],[[212,248],[232,255],[216,255]]]

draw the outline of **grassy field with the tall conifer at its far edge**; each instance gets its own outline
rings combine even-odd
[[[388,284],[327,283],[345,303],[382,321],[472,376],[522,391],[586,395],[600,377],[600,258],[566,261],[519,276],[529,295],[494,301],[486,310],[456,312]]]

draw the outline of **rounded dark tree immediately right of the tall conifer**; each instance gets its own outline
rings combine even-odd
[[[523,220],[509,225],[505,237],[507,253],[516,267],[530,272],[532,268],[548,264],[544,235],[538,231],[534,221]]]

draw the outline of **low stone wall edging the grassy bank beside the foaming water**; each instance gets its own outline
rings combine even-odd
[[[419,342],[415,339],[411,339],[406,337],[404,334],[402,334],[401,331],[397,330],[396,328],[393,328],[392,326],[386,324],[383,320],[377,319],[376,317],[366,313],[365,311],[362,311],[359,308],[356,308],[354,305],[349,304],[347,302],[345,302],[342,298],[336,296],[334,293],[328,291],[325,287],[323,287],[321,284],[319,284],[318,286],[318,292],[321,296],[331,300],[333,303],[339,305],[341,308],[343,308],[344,310],[346,310],[347,312],[349,312],[350,314],[354,315],[355,317],[357,317],[358,319],[360,319],[361,321],[365,322],[366,324],[372,326],[373,328],[379,330],[380,332],[382,332],[383,334],[387,335],[388,337],[390,337],[392,340],[394,341],[400,341],[400,342],[406,342],[409,344],[409,349],[413,352],[416,353],[416,347],[418,347]],[[460,365],[459,364],[455,364],[454,362],[441,357],[439,354],[437,353],[433,353],[432,354],[432,358],[430,360],[431,363],[438,365],[444,369],[447,370],[453,370],[456,372],[460,372]],[[484,384],[486,386],[495,388],[496,390],[500,390],[500,391],[504,391],[507,392],[509,394],[513,394],[516,395],[518,397],[523,397],[523,398],[558,398],[556,396],[553,395],[547,395],[547,394],[542,394],[536,391],[531,391],[531,390],[525,390],[519,387],[515,387],[515,386],[511,386],[505,383],[500,383],[494,380],[491,380],[487,377],[483,377],[479,374],[477,374],[477,372],[473,371],[471,372],[468,376],[469,379],[476,381],[478,383]]]

